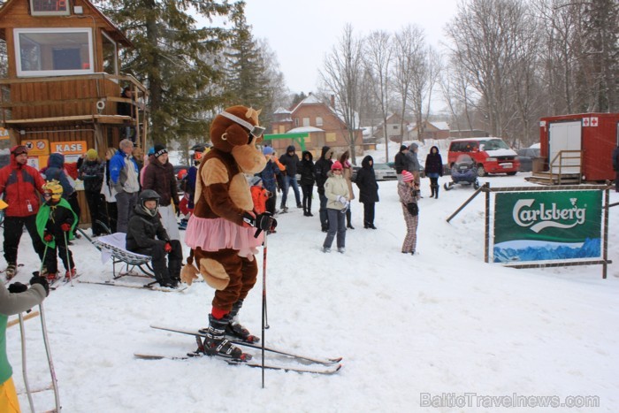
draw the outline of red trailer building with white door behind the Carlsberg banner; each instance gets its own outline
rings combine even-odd
[[[615,180],[611,157],[619,144],[618,125],[619,113],[579,113],[542,118],[539,121],[540,155],[547,163],[562,150],[580,150],[583,180]],[[577,159],[566,161],[567,164],[578,164]],[[562,172],[574,171],[563,166]]]

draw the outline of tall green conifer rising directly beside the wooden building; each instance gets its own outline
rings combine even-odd
[[[134,75],[149,88],[151,139],[206,140],[204,114],[224,101],[211,86],[223,76],[217,59],[230,34],[221,27],[198,28],[190,13],[205,20],[225,20],[233,5],[201,0],[103,0],[97,6],[134,43],[133,50],[123,52],[121,72]]]

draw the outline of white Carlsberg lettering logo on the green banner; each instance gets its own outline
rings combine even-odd
[[[550,209],[546,209],[544,203],[539,203],[531,208],[534,199],[521,199],[514,204],[512,217],[518,226],[531,226],[531,231],[539,233],[547,227],[572,228],[585,222],[585,208],[578,208],[576,198],[570,198],[571,208],[559,210],[556,203],[552,203]],[[558,222],[558,221],[562,222]]]

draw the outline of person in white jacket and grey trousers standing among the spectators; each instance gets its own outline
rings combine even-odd
[[[329,178],[325,182],[326,213],[329,217],[329,230],[323,242],[323,252],[331,252],[333,238],[337,233],[338,252],[346,251],[346,210],[350,204],[348,182],[342,175],[340,161],[333,162]]]

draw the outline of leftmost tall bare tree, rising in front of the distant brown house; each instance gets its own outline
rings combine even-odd
[[[361,41],[353,34],[353,27],[347,24],[340,42],[325,57],[320,77],[325,88],[335,97],[335,111],[340,114],[347,127],[347,143],[352,162],[356,163],[355,147],[359,120],[359,82],[363,75]],[[346,136],[346,134],[345,134]]]

